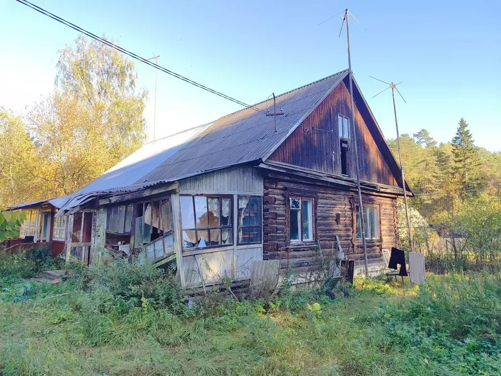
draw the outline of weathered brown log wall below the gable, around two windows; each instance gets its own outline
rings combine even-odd
[[[265,178],[263,197],[263,259],[272,260],[289,255],[289,262],[312,256],[315,244],[302,243],[299,247],[291,247],[289,240],[289,194],[297,195],[301,191],[315,195],[314,234],[320,242],[324,254],[330,253],[335,236],[338,235],[343,250],[350,260],[362,260],[363,248],[361,240],[355,239],[354,205],[358,201],[356,191],[343,191],[332,187],[309,184],[275,177]],[[397,246],[398,220],[397,201],[395,197],[378,194],[364,194],[364,204],[380,206],[380,240],[367,240],[367,256],[369,259],[380,258],[381,250]],[[337,217],[339,215],[339,221]],[[335,247],[335,245],[334,245]],[[317,247],[318,249],[318,247]],[[284,265],[283,265],[284,267]]]

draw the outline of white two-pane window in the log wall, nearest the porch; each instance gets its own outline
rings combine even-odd
[[[313,199],[289,199],[291,241],[313,241]]]

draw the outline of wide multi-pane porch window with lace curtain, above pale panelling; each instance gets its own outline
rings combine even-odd
[[[233,244],[232,196],[180,196],[183,250]]]

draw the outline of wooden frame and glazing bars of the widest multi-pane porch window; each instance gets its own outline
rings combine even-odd
[[[222,248],[222,247],[233,247],[235,245],[235,241],[236,239],[234,239],[234,227],[235,227],[235,218],[233,218],[235,216],[235,212],[234,212],[234,200],[233,200],[233,195],[212,195],[212,194],[195,194],[195,195],[189,195],[189,194],[186,194],[186,195],[179,195],[179,201],[181,199],[181,197],[191,197],[191,200],[192,200],[192,209],[193,209],[193,225],[195,226],[194,228],[184,228],[183,227],[183,222],[182,222],[182,208],[181,208],[181,204],[179,205],[180,207],[180,220],[181,220],[181,250],[182,250],[182,253],[186,254],[186,253],[189,253],[189,252],[195,252],[195,251],[200,251],[200,250],[207,250],[207,249],[213,249],[213,248]],[[207,219],[207,227],[203,227],[203,228],[197,228],[196,227],[196,207],[195,207],[195,197],[205,197],[205,200],[206,200],[206,203],[207,203],[207,213],[209,212],[209,204],[208,204],[208,199],[219,199],[219,224],[220,226],[219,227],[209,227],[209,221]],[[230,200],[230,209],[229,209],[229,213],[230,213],[230,216],[231,216],[231,221],[230,221],[230,225],[226,225],[226,226],[223,226],[221,224],[221,217],[222,217],[222,199],[229,199]],[[230,233],[231,233],[231,244],[216,244],[216,245],[209,245],[209,246],[206,246],[206,247],[198,247],[198,245],[196,247],[191,247],[191,248],[186,248],[184,247],[184,236],[183,236],[183,232],[184,231],[194,231],[195,232],[195,239],[198,241],[198,231],[207,231],[207,234],[208,234],[208,239],[207,239],[207,242],[210,244],[210,230],[220,230],[220,233],[221,233],[221,237],[222,237],[222,230],[225,229],[225,230],[230,230]]]

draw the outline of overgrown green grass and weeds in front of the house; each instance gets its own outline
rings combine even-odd
[[[187,308],[151,269],[96,267],[54,285],[11,263],[0,260],[0,374],[501,374],[499,275],[358,280],[337,301],[213,294]]]

